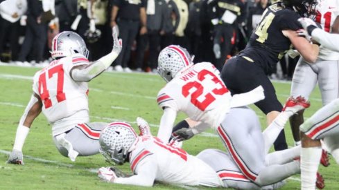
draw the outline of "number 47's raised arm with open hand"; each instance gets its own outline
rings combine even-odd
[[[100,75],[105,71],[112,62],[119,56],[121,52],[121,48],[123,46],[122,40],[118,39],[119,29],[118,26],[114,26],[112,28],[112,36],[113,36],[113,48],[111,53],[101,57],[97,61],[92,62],[87,66],[79,66],[73,68],[71,70],[71,77],[73,80],[78,82],[89,82],[94,79],[94,77]]]

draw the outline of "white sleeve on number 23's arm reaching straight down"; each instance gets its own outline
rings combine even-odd
[[[157,134],[157,137],[159,137],[159,139],[163,142],[167,143],[171,137],[175,117],[177,117],[177,111],[173,108],[164,109],[164,114],[160,120],[160,127]]]

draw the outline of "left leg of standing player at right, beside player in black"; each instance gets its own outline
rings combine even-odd
[[[293,74],[290,95],[292,97],[302,96],[308,99],[318,81],[318,71],[311,68],[309,64],[300,58]],[[304,122],[304,111],[290,117],[290,127],[292,129],[295,144],[300,144],[299,126]]]

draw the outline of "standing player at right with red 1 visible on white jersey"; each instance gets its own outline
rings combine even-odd
[[[339,1],[318,0],[315,21],[326,32],[339,32]],[[322,105],[329,104],[339,97],[339,53],[320,46],[318,59],[315,63],[308,63],[300,58],[293,75],[291,93],[293,97],[301,95],[308,99],[309,95],[319,85],[322,95]],[[303,111],[290,118],[295,144],[300,144],[299,126],[304,122]],[[326,143],[327,140],[324,140]]]

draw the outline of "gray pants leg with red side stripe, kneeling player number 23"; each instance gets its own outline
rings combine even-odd
[[[261,187],[300,172],[298,161],[266,165],[261,125],[250,108],[232,108],[217,131],[238,169]]]

